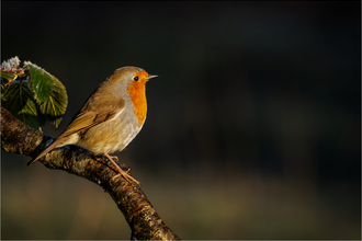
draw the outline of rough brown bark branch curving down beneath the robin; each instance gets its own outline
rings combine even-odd
[[[35,158],[54,138],[23,124],[1,107],[1,144],[10,153]],[[178,240],[136,184],[128,183],[110,167],[104,157],[94,157],[78,146],[66,146],[39,160],[48,169],[63,170],[84,177],[108,192],[128,222],[133,240]]]

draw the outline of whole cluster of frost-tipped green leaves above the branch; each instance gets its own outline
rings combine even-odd
[[[19,68],[19,62],[15,58],[2,65],[2,105],[36,129],[41,129],[46,120],[58,127],[68,105],[66,88],[35,64],[25,61],[24,67]]]

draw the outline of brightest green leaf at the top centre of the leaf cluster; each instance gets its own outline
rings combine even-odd
[[[38,104],[42,104],[50,97],[54,80],[57,80],[57,78],[34,64],[29,64],[26,67],[31,74],[31,84],[34,92],[34,99]]]

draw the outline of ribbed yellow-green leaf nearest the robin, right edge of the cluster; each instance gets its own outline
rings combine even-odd
[[[68,95],[66,88],[57,79],[53,78],[53,89],[49,97],[41,104],[41,111],[45,117],[57,128],[66,113]]]

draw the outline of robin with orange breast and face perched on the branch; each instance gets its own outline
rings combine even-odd
[[[60,136],[27,165],[54,148],[78,145],[105,156],[128,182],[139,184],[115,163],[113,159],[117,157],[109,153],[122,151],[142,129],[147,114],[146,82],[155,77],[137,67],[116,69],[90,95]]]

